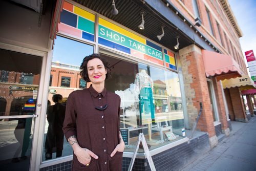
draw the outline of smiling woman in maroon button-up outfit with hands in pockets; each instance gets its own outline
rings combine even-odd
[[[73,148],[72,170],[121,170],[124,142],[119,132],[120,97],[106,91],[109,62],[86,56],[81,76],[90,88],[69,95],[63,132]]]

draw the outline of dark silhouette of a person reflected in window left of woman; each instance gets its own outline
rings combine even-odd
[[[52,97],[54,105],[49,106],[47,120],[49,123],[45,142],[46,160],[52,159],[52,153],[61,157],[63,149],[64,134],[62,131],[66,107],[61,104],[62,96],[55,94]]]

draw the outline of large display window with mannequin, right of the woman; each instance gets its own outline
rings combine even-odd
[[[185,136],[177,73],[101,56],[111,63],[112,77],[105,86],[121,98],[120,131],[125,152],[134,152],[142,132],[150,150]],[[139,152],[143,152],[141,148]]]

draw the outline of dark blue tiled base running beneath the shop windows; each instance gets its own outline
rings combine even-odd
[[[156,170],[170,171],[181,170],[190,161],[195,160],[200,154],[209,150],[209,137],[205,133],[199,137],[195,137],[188,142],[177,145],[162,153],[152,156]],[[126,171],[129,168],[131,158],[123,158],[122,171]],[[45,168],[41,168],[40,171],[47,170],[61,170],[70,171],[71,161],[65,162]],[[150,165],[147,159],[136,159],[133,170],[136,171],[150,171]]]

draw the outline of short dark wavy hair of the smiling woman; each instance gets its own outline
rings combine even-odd
[[[99,60],[102,61],[105,69],[106,69],[106,79],[108,79],[110,77],[110,63],[108,60],[106,60],[105,58],[99,56],[99,54],[97,53],[93,53],[91,55],[88,55],[86,57],[83,58],[82,63],[81,63],[81,67],[80,67],[80,75],[81,77],[86,81],[86,82],[90,82],[91,80],[89,79],[88,76],[88,71],[87,71],[87,64],[89,62],[89,60],[92,60],[94,58],[98,58]]]

